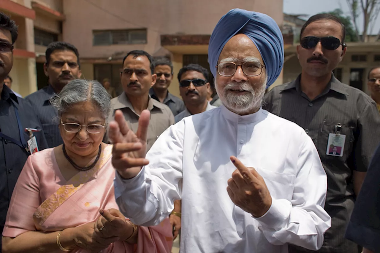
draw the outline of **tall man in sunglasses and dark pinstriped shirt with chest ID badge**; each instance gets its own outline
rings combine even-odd
[[[344,39],[345,28],[337,17],[310,17],[297,46],[301,74],[274,87],[264,98],[268,111],[297,123],[312,138],[326,171],[325,210],[332,221],[318,252],[360,251],[355,243],[344,239],[344,234],[370,158],[380,142],[380,115],[375,102],[332,74],[346,53]],[[293,141],[297,138],[294,136]],[[331,146],[342,147],[339,156],[329,153]],[[314,251],[290,245],[289,252]]]

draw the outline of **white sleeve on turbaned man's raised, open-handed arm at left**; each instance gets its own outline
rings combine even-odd
[[[183,125],[183,122],[178,124]],[[176,126],[181,129],[179,125]],[[133,223],[141,226],[158,225],[174,209],[174,200],[181,199],[182,141],[174,131],[174,126],[171,126],[149,150],[146,158],[150,163],[136,177],[125,180],[116,173],[116,202],[123,215]]]

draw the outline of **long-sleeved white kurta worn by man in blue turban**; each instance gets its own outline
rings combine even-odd
[[[264,178],[272,206],[253,218],[226,191],[230,156]],[[182,199],[181,253],[286,253],[287,243],[322,246],[331,218],[317,149],[293,122],[263,109],[240,116],[224,106],[168,128],[138,176],[115,179],[120,210],[137,225],[157,225]]]

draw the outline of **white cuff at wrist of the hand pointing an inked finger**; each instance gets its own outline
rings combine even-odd
[[[263,216],[252,217],[265,227],[279,230],[288,223],[291,207],[290,201],[286,199],[272,199],[271,207]]]

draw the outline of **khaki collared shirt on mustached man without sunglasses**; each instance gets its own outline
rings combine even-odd
[[[132,104],[128,100],[127,95],[123,92],[120,96],[112,98],[111,100],[111,113],[107,120],[107,125],[111,120],[114,119],[115,111],[120,109],[127,121],[128,127],[134,132],[137,132],[139,125],[140,115],[136,114],[133,109]],[[149,96],[148,108],[150,111],[150,121],[148,126],[147,134],[147,152],[152,147],[154,142],[157,140],[163,131],[166,130],[169,126],[174,124],[174,116],[170,108],[165,104],[158,102],[157,100],[152,99]],[[108,134],[105,136],[105,141],[110,143]]]

